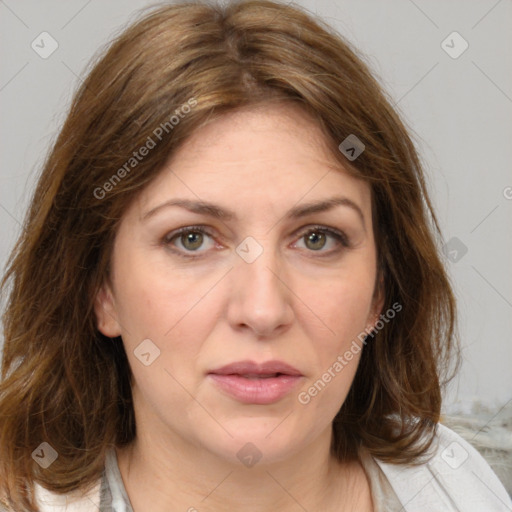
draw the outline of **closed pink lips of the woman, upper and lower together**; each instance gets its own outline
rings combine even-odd
[[[276,376],[268,377],[270,374]],[[231,397],[247,404],[271,404],[286,396],[302,374],[282,361],[238,361],[211,371],[209,377]],[[261,376],[261,377],[258,377]]]

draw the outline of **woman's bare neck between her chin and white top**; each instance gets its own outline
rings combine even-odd
[[[153,512],[371,510],[360,464],[330,456],[330,429],[286,460],[252,467],[182,439],[155,437],[138,431],[131,445],[117,451],[134,512],[147,510],[148,503]]]

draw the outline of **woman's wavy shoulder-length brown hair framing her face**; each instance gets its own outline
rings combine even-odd
[[[458,357],[455,301],[423,171],[391,102],[356,50],[301,9],[265,0],[159,6],[112,43],[77,91],[2,281],[0,495],[14,509],[37,510],[34,482],[62,493],[91,485],[106,450],[135,436],[122,340],[98,331],[93,308],[123,212],[205,122],[271,101],[310,113],[334,157],[370,183],[384,310],[402,306],[363,350],[332,453],[348,460],[362,444],[395,463],[426,453]],[[162,125],[165,136],[127,167]],[[350,134],[365,144],[353,162],[338,149]],[[51,471],[31,458],[43,441],[58,452]]]

